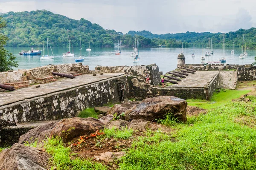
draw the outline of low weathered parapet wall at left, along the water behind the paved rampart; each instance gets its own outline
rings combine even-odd
[[[34,83],[35,78],[52,75],[52,71],[65,73],[76,69],[81,73],[87,73],[89,71],[88,65],[80,64],[61,64],[61,65],[46,65],[42,67],[32,68],[28,70],[7,71],[0,72],[0,84],[16,81],[29,81]],[[58,76],[57,76],[58,77]]]

